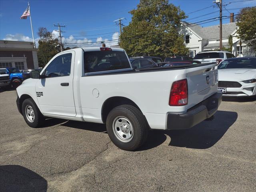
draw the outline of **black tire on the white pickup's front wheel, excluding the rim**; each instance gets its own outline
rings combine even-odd
[[[33,110],[33,114],[34,114],[34,118],[33,120],[29,120],[29,118],[26,115],[26,108],[30,106]],[[33,127],[33,128],[38,128],[40,127],[43,123],[44,123],[44,116],[42,115],[42,113],[40,112],[40,110],[38,109],[36,103],[34,102],[34,100],[32,98],[28,98],[25,99],[22,103],[22,115],[24,117],[24,120],[26,121],[26,123],[28,124],[28,126]]]

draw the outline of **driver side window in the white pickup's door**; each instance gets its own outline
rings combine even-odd
[[[69,76],[71,69],[72,53],[56,57],[46,68],[44,75],[48,77]]]

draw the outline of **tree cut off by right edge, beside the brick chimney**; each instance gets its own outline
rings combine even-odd
[[[241,9],[236,19],[239,38],[248,42],[256,51],[256,6]]]

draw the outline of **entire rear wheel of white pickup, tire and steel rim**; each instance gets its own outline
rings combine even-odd
[[[106,122],[111,141],[120,149],[133,151],[146,142],[148,124],[134,106],[121,105],[110,111]]]

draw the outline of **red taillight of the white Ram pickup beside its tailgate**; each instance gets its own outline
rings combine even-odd
[[[186,79],[175,81],[172,84],[169,105],[182,106],[188,104],[188,82]]]

